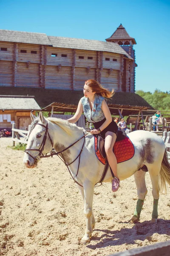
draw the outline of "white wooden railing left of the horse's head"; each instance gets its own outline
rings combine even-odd
[[[22,137],[20,137],[20,136],[22,136]],[[28,143],[28,131],[16,129],[15,123],[13,123],[12,124],[12,141],[13,141],[13,146],[15,146],[15,142],[27,144]]]

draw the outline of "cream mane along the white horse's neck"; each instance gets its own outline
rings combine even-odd
[[[70,136],[72,136],[75,132],[83,131],[82,127],[78,127],[77,125],[69,123],[67,120],[64,119],[48,117],[47,120],[58,125]]]

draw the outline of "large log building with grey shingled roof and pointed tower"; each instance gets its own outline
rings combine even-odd
[[[0,30],[0,87],[75,91],[96,79],[110,90],[134,93],[133,44],[122,24],[106,41]]]

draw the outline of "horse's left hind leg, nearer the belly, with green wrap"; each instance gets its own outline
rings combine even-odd
[[[147,194],[147,187],[146,187],[146,183],[145,183],[145,174],[146,174],[146,172],[143,172],[142,170],[137,171],[134,174],[139,199],[137,201],[136,209],[133,214],[133,217],[130,219],[131,223],[135,223],[136,221],[139,221],[140,214],[142,211],[142,206],[144,203],[144,198]]]

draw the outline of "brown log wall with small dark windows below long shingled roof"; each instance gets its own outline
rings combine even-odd
[[[96,79],[109,90],[134,92],[134,72],[134,61],[117,53],[0,42],[0,86],[82,90]]]

